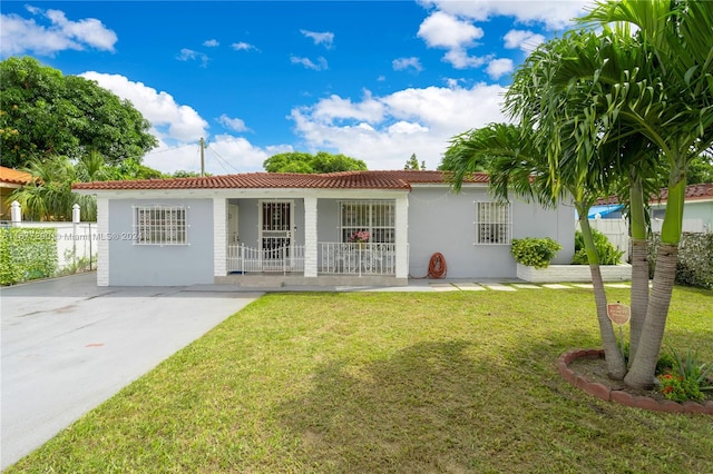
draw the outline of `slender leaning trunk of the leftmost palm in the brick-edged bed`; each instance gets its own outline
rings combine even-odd
[[[586,207],[584,211],[577,209],[579,215],[579,227],[582,228],[582,236],[584,237],[584,245],[587,250],[587,258],[589,260],[589,271],[592,273],[592,285],[594,287],[594,303],[597,308],[597,322],[599,324],[599,335],[602,343],[604,344],[604,355],[606,358],[606,365],[608,375],[611,378],[621,381],[626,375],[626,363],[624,356],[619,352],[616,344],[616,335],[614,334],[614,326],[609,320],[609,316],[606,312],[606,292],[604,290],[604,280],[602,279],[602,269],[599,268],[599,256],[594,240],[592,238],[592,228],[589,227],[589,219],[587,218]]]

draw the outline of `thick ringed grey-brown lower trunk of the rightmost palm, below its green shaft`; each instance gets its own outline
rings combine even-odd
[[[658,247],[656,273],[648,299],[646,319],[642,327],[638,349],[632,363],[632,368],[624,377],[624,383],[629,387],[651,388],[654,385],[656,362],[658,362],[661,343],[664,338],[668,305],[671,304],[673,284],[676,277],[677,258],[677,245],[662,244]]]

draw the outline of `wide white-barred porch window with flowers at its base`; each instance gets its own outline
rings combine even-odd
[[[340,201],[339,228],[342,241],[360,241],[358,237],[363,237],[363,233],[368,233],[367,241],[393,244],[395,241],[394,213],[393,200]]]

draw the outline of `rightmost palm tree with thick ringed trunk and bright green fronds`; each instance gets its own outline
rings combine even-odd
[[[598,2],[584,21],[618,22],[624,26],[619,36],[627,26],[636,27],[627,40],[642,52],[639,60],[626,78],[600,78],[614,82],[596,113],[600,120],[619,119],[627,134],[645,137],[667,167],[662,245],[637,350],[624,378],[629,386],[649,387],[673,292],[687,165],[713,144],[713,2],[608,0]]]

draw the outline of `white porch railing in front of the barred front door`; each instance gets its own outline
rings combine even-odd
[[[293,245],[268,250],[244,244],[227,246],[227,273],[304,271],[304,246]]]

